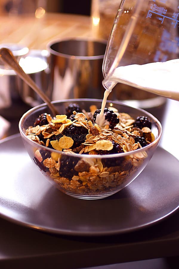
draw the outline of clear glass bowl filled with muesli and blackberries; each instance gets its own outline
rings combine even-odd
[[[56,188],[76,198],[105,198],[126,187],[161,139],[161,123],[152,114],[117,101],[107,101],[105,125],[98,125],[101,102],[54,101],[55,117],[41,104],[19,122],[34,165]]]

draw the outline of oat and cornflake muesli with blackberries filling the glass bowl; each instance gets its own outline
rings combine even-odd
[[[56,150],[36,149],[34,162],[62,191],[79,195],[115,192],[147,158],[146,151],[132,152],[154,141],[151,129],[134,127],[135,119],[129,114],[110,109],[119,119],[114,129],[96,124],[93,114],[97,108],[91,106],[90,112],[73,111],[68,118],[65,114],[54,118],[45,114],[47,124],[41,125],[38,118],[38,125],[26,130],[31,140]],[[109,154],[121,152],[131,154],[109,158]]]

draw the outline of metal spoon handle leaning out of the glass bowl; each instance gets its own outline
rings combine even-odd
[[[56,110],[55,106],[50,102],[50,99],[44,94],[44,92],[40,88],[38,88],[38,86],[31,79],[31,77],[24,72],[24,70],[21,68],[21,66],[18,64],[17,60],[15,59],[12,51],[10,51],[8,48],[1,48],[0,59],[4,63],[9,65],[17,73],[17,75],[22,80],[24,80],[24,82],[26,82],[41,97],[41,99],[45,103],[47,103],[47,106],[52,111],[53,116],[58,115],[58,111]]]

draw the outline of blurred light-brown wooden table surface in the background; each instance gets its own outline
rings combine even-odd
[[[30,49],[46,49],[49,41],[68,37],[96,37],[90,16],[47,13],[43,18],[0,16],[0,43],[18,43]]]

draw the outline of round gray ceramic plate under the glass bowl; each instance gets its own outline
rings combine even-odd
[[[55,189],[34,166],[20,135],[0,143],[0,215],[50,233],[99,236],[154,224],[179,207],[179,161],[160,147],[141,175],[109,198],[81,200]]]

